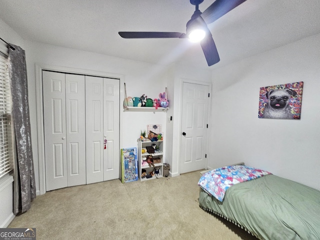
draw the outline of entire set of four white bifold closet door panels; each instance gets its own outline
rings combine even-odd
[[[119,80],[42,71],[42,85],[46,190],[118,178]]]

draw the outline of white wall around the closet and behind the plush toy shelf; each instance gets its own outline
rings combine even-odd
[[[74,72],[87,72],[104,76],[119,76],[121,79],[121,105],[124,98],[124,84],[127,96],[158,97],[167,81],[167,67],[145,62],[137,62],[93,52],[63,48],[37,42],[25,41],[26,64],[29,89],[29,108],[33,158],[35,165],[36,187],[39,189],[36,124],[36,77],[35,65],[67,69]],[[165,132],[165,114],[163,112],[123,112],[120,110],[120,148],[137,146],[137,138],[147,124],[162,124]],[[165,139],[165,135],[164,135]]]

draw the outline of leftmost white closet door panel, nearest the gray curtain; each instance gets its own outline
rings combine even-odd
[[[65,75],[42,71],[46,190],[67,186]]]

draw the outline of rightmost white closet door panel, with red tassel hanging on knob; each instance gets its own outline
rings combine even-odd
[[[104,180],[119,177],[119,92],[118,79],[103,78]]]

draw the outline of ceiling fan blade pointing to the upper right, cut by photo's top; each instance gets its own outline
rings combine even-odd
[[[201,17],[206,24],[209,24],[232,10],[234,7],[240,5],[244,1],[246,0],[215,0],[208,8],[206,8],[201,13]]]

